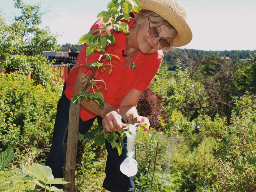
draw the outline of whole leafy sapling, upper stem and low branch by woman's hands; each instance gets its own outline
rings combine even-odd
[[[109,44],[115,43],[115,38],[112,35],[114,30],[123,31],[123,33],[129,32],[127,23],[121,22],[121,19],[124,18],[125,20],[130,21],[129,13],[132,10],[138,13],[140,11],[141,5],[137,0],[112,0],[107,5],[107,8],[107,11],[102,11],[97,16],[102,17],[105,26],[103,26],[101,29],[105,32],[99,33],[100,31],[98,29],[91,30],[89,31],[89,33],[83,35],[79,39],[78,44],[86,43],[87,45],[86,57],[89,57],[91,54],[94,53],[94,51],[101,52],[101,54],[99,56],[98,61],[94,61],[92,63],[79,63],[79,65],[86,66],[84,78],[82,78],[83,80],[81,83],[84,83],[86,80],[87,83],[84,89],[73,98],[74,103],[78,102],[80,97],[83,100],[92,99],[99,105],[101,109],[104,108],[104,98],[102,93],[100,92],[100,88],[105,87],[106,89],[106,84],[104,82],[104,79],[100,78],[97,73],[94,74],[94,72],[96,69],[105,70],[105,67],[109,70],[109,73],[112,72],[113,63],[111,58],[116,57],[119,59],[119,57],[107,53],[105,49]],[[107,27],[111,25],[112,30],[110,32]],[[109,61],[109,63],[104,64],[103,58]],[[90,77],[88,76],[88,73],[86,71],[88,68],[92,68],[92,73]],[[97,84],[98,82],[103,83],[103,85],[99,87]],[[90,86],[93,90],[92,93],[88,89],[88,87]],[[90,140],[94,140],[96,145],[103,145],[105,143],[105,140],[107,139],[107,141],[111,144],[112,148],[116,147],[118,150],[118,154],[121,155],[122,149],[124,148],[123,139],[126,136],[129,137],[130,134],[131,132],[129,131],[118,131],[118,133],[108,133],[104,129],[102,129],[102,126],[98,126],[96,129],[86,133],[85,135],[79,134],[79,140],[83,144],[89,142]],[[136,141],[140,141],[143,135],[145,135],[145,137],[149,140],[148,133],[143,130],[143,127],[138,128],[136,132]]]

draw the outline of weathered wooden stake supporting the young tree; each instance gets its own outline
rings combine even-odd
[[[70,99],[67,154],[66,154],[65,178],[64,178],[65,181],[70,183],[64,185],[63,190],[65,192],[74,192],[74,188],[75,188],[80,104],[81,104],[81,98],[79,98],[79,101],[77,103],[73,103],[72,98]]]

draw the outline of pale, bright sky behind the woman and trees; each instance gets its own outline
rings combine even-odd
[[[42,16],[42,27],[59,34],[58,44],[76,44],[88,33],[97,15],[106,10],[110,0],[23,0],[27,4],[40,2],[50,12]],[[186,22],[193,39],[180,48],[200,50],[255,50],[255,0],[180,0],[187,11]],[[6,16],[19,15],[12,0],[0,0]]]

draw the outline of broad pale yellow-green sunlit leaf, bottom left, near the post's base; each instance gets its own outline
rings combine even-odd
[[[29,171],[34,173],[33,176],[39,180],[41,180],[42,178],[50,177],[52,174],[51,168],[49,166],[44,166],[40,164],[32,164],[32,166],[29,167]]]

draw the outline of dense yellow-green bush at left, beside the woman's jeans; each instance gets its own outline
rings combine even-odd
[[[41,147],[47,148],[61,93],[60,85],[56,84],[54,89],[50,85],[36,85],[29,76],[16,73],[2,74],[0,81],[0,139],[18,142],[25,149],[29,146],[30,155],[34,150],[38,153]],[[8,145],[7,141],[1,142],[0,148]],[[12,143],[17,150],[26,153],[21,145]]]

